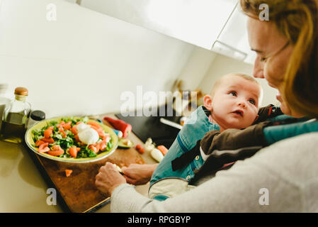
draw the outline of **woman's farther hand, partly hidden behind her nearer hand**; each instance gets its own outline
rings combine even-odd
[[[127,183],[140,185],[149,182],[157,165],[158,164],[130,164],[129,167],[123,167],[121,170]]]

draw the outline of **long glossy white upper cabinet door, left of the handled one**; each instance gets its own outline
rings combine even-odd
[[[81,0],[80,6],[211,50],[237,0]]]

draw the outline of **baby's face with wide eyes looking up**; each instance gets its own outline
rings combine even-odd
[[[260,96],[259,84],[233,75],[222,80],[211,97],[212,103],[205,107],[211,111],[221,131],[246,128],[256,120]]]

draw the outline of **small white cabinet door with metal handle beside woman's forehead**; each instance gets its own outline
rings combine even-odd
[[[213,43],[211,50],[254,64],[256,54],[249,47],[246,21],[247,16],[242,13],[239,4],[237,4],[222,32]]]

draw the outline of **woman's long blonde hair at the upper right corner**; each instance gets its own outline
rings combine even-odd
[[[294,46],[284,75],[283,93],[288,105],[300,114],[318,116],[318,1],[240,0],[247,16],[259,18],[267,4],[273,22]]]

